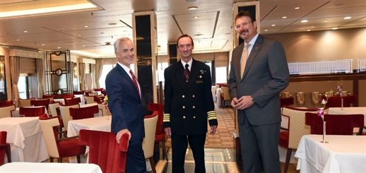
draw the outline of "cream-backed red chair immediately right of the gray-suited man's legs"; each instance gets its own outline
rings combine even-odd
[[[310,134],[310,126],[305,125],[305,113],[316,113],[317,109],[297,109],[295,107],[282,107],[282,116],[288,117],[288,131],[281,131],[278,145],[287,148],[285,170],[288,171],[291,153],[297,149],[302,136]]]

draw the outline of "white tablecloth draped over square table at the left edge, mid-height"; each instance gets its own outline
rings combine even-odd
[[[48,153],[40,128],[39,117],[7,117],[0,119],[0,131],[7,131],[12,162],[42,162]]]

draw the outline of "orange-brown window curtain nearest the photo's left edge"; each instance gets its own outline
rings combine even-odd
[[[13,89],[13,100],[16,104],[16,107],[19,105],[19,89],[18,89],[18,80],[20,75],[20,57],[19,56],[11,56],[10,57],[10,66],[11,66],[11,82],[13,85],[11,88]]]

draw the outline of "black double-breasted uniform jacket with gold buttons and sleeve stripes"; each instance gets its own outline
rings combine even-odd
[[[165,68],[164,127],[173,134],[199,135],[217,125],[211,93],[211,71],[206,64],[193,59],[189,80],[184,76],[182,63]]]

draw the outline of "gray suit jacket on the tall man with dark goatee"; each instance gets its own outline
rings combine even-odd
[[[230,97],[251,95],[254,105],[238,111],[238,123],[244,122],[244,112],[250,124],[264,125],[281,122],[279,93],[288,86],[290,75],[281,42],[259,35],[250,52],[240,78],[240,58],[244,43],[232,52],[228,88]]]

